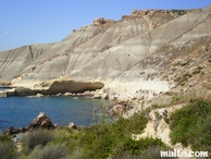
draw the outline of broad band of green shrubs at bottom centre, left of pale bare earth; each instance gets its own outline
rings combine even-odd
[[[61,127],[54,132],[54,139],[51,144],[65,144],[69,157],[73,159],[117,159],[124,157],[141,158],[146,156],[159,159],[160,149],[170,149],[160,139],[132,139],[132,134],[144,132],[149,120],[149,111],[147,109],[131,119],[121,118],[109,124],[101,121],[79,131]]]

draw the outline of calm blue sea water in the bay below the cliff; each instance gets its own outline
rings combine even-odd
[[[8,97],[0,98],[0,131],[9,126],[27,126],[39,112],[45,112],[52,123],[87,126],[98,119],[102,106],[111,102],[83,97]]]

